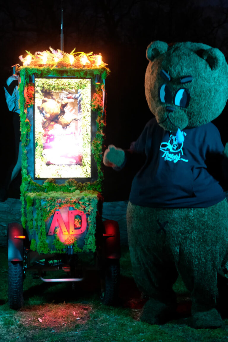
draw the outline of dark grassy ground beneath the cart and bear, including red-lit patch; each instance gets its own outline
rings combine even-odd
[[[27,273],[24,306],[7,304],[6,248],[0,249],[0,342],[218,342],[228,341],[228,319],[220,329],[191,327],[189,293],[181,279],[174,285],[178,309],[167,324],[139,321],[145,300],[131,275],[128,249],[122,250],[120,303],[103,306],[95,274],[72,290],[70,283],[44,283]]]

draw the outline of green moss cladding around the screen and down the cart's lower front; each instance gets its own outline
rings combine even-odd
[[[68,179],[63,184],[56,184],[53,179],[44,180],[42,184],[32,180],[28,174],[27,148],[30,136],[30,121],[27,109],[34,104],[34,92],[32,91],[29,78],[35,74],[36,77],[76,77],[91,78],[95,92],[92,94],[91,108],[97,113],[97,131],[92,141],[92,154],[97,164],[97,180],[94,182],[80,183],[75,179]],[[103,129],[105,122],[105,107],[102,104],[103,85],[95,85],[94,75],[99,74],[106,79],[109,69],[73,69],[73,68],[33,68],[21,67],[19,84],[19,105],[21,108],[21,139],[22,139],[22,224],[27,229],[30,239],[30,248],[39,253],[65,253],[66,246],[59,240],[58,236],[47,236],[46,222],[51,218],[57,209],[70,207],[83,211],[87,216],[87,233],[84,244],[78,247],[77,239],[72,242],[75,252],[95,251],[95,229],[98,201],[102,191],[102,144],[104,140]],[[39,182],[40,183],[40,182]]]

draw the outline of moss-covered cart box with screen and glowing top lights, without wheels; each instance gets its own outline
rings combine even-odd
[[[100,54],[50,51],[19,57],[22,225],[32,251],[94,252],[110,70]]]

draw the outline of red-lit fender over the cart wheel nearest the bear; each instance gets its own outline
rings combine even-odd
[[[120,259],[120,229],[117,221],[103,221],[103,255],[107,259]]]

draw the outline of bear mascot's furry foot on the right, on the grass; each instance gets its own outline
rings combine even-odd
[[[216,329],[223,326],[223,320],[215,308],[192,313],[192,323],[196,329]]]

